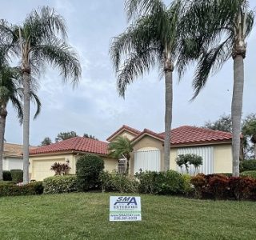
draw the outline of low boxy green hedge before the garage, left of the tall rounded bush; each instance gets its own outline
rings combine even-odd
[[[77,191],[76,175],[56,175],[43,180],[44,194],[61,194]]]

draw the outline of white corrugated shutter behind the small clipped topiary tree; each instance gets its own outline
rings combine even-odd
[[[203,174],[214,173],[214,147],[213,146],[201,146],[201,147],[184,147],[178,149],[179,154],[197,154],[202,157],[202,166],[199,167],[198,172]],[[178,167],[178,171],[184,173],[185,167]],[[189,174],[194,174],[194,166],[190,166]]]

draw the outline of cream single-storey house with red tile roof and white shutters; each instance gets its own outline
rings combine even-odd
[[[122,126],[107,138],[107,142],[75,137],[49,146],[30,150],[30,178],[42,180],[54,175],[50,166],[54,162],[68,163],[70,174],[75,173],[77,159],[82,154],[98,154],[104,159],[105,170],[125,170],[125,160],[109,158],[108,142],[118,136],[129,138],[134,143],[130,158],[130,174],[139,170],[163,170],[165,133],[142,131]],[[199,172],[204,174],[232,172],[232,134],[195,126],[180,126],[171,130],[170,169],[182,171],[175,159],[179,154],[198,154],[203,158]],[[190,169],[193,173],[193,169]]]

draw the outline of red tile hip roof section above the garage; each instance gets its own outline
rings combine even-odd
[[[48,146],[40,146],[30,150],[30,154],[47,154],[62,151],[81,151],[93,154],[107,154],[107,142],[94,140],[91,138],[75,137],[56,142]]]

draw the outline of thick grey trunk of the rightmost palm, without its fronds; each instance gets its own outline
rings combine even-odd
[[[232,154],[233,176],[239,176],[239,150],[242,118],[242,95],[244,85],[243,56],[238,54],[234,57],[234,86],[231,106],[232,117]]]

